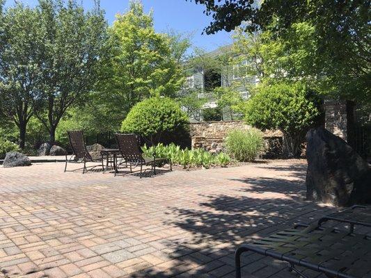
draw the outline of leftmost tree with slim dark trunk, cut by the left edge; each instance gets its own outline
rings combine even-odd
[[[0,116],[19,129],[19,147],[24,149],[26,126],[35,112],[40,70],[37,63],[38,16],[20,3],[3,10],[0,1]]]

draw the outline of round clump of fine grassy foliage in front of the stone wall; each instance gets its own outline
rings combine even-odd
[[[264,147],[262,132],[258,129],[232,130],[226,137],[228,154],[237,161],[254,161]]]

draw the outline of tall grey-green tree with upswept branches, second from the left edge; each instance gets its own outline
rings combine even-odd
[[[88,13],[74,0],[40,0],[38,13],[40,52],[38,67],[42,110],[35,111],[49,140],[54,142],[58,123],[68,108],[84,101],[97,79],[106,22],[99,2]],[[36,99],[36,98],[35,98]]]

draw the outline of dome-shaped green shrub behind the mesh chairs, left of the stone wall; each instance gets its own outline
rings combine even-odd
[[[151,97],[132,108],[121,130],[140,134],[156,144],[161,136],[186,130],[187,124],[187,115],[175,101],[168,97]]]

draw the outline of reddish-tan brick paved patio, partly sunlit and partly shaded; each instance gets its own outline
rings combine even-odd
[[[236,245],[332,209],[304,200],[303,161],[143,179],[63,167],[0,167],[0,277],[234,277]],[[243,263],[245,277],[294,277]]]

